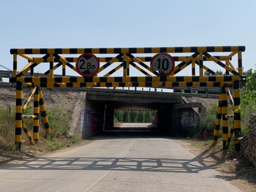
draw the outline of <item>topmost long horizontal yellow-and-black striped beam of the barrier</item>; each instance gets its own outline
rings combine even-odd
[[[10,49],[10,54],[119,54],[119,53],[195,53],[195,52],[244,52],[245,46],[212,47],[140,47],[140,48],[27,48]]]

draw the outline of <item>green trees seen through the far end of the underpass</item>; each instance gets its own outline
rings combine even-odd
[[[118,122],[152,122],[152,111],[115,111],[114,115]]]

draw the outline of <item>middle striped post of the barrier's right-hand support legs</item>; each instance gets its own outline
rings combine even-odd
[[[228,119],[226,115],[227,111],[227,93],[225,87],[222,87],[222,142],[223,142],[223,149],[226,148],[226,142],[228,138]]]

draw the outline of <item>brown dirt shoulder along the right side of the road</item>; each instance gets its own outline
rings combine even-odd
[[[197,155],[205,165],[220,172],[241,191],[256,191],[256,167],[241,153],[227,152],[222,150],[220,145],[211,146],[209,141],[178,139],[175,141]]]

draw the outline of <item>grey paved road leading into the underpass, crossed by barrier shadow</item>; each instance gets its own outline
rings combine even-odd
[[[172,138],[133,126],[1,166],[0,191],[240,191]]]

